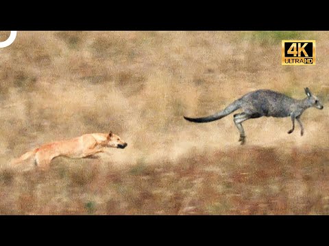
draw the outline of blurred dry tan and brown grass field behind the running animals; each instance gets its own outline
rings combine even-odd
[[[9,36],[0,31],[0,41]],[[282,66],[281,40],[316,40],[315,66]],[[0,49],[1,215],[328,215],[329,32],[19,31]],[[204,116],[252,90],[304,98],[289,118]],[[124,150],[8,162],[43,143],[113,131]]]

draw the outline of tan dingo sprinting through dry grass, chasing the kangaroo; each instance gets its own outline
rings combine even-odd
[[[127,143],[119,136],[112,133],[91,133],[64,141],[47,143],[40,148],[26,152],[19,159],[12,161],[12,165],[19,164],[33,157],[34,165],[47,167],[51,160],[57,156],[66,156],[80,159],[92,156],[98,152],[104,152],[106,148],[125,148]]]

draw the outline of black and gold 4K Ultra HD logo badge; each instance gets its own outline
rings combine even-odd
[[[315,40],[282,40],[282,65],[315,65]]]

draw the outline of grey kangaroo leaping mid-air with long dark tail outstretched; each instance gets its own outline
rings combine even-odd
[[[297,120],[300,124],[300,135],[302,136],[304,134],[304,127],[300,121],[300,115],[302,115],[304,110],[309,107],[316,107],[317,109],[324,108],[324,106],[321,105],[319,98],[314,96],[307,87],[304,88],[304,90],[307,97],[302,100],[290,98],[289,96],[271,90],[256,90],[255,92],[245,94],[228,105],[226,109],[219,111],[214,115],[204,118],[188,118],[184,116],[184,119],[198,123],[212,122],[229,115],[237,109],[242,109],[242,113],[236,113],[233,115],[234,123],[240,132],[239,141],[241,141],[241,144],[245,143],[245,131],[241,123],[245,120],[260,118],[262,116],[272,116],[276,118],[290,116],[291,121],[293,122],[293,128],[291,128],[288,133],[290,134],[293,132],[295,129],[295,120]]]

